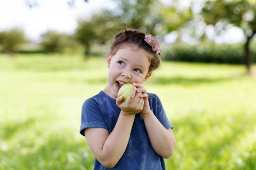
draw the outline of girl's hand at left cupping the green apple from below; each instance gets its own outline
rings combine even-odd
[[[133,87],[131,94],[125,102],[122,102],[123,96],[116,98],[116,105],[123,111],[121,113],[125,115],[135,115],[143,109],[144,100],[140,97],[141,92],[136,92],[136,88]]]

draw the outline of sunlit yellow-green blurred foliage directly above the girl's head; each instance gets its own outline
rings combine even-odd
[[[181,7],[179,0],[114,0],[119,9],[120,25],[157,35],[161,40],[193,18],[190,5]]]

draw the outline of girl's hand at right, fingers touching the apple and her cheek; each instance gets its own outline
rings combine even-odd
[[[147,90],[140,83],[133,82],[133,85],[137,87],[137,90],[136,90],[137,94],[140,93],[140,97],[143,98],[144,100],[143,109],[141,110],[141,116],[144,116],[149,112],[151,112],[149,107],[149,102],[148,102]]]

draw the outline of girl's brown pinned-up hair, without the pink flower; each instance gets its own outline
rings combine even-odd
[[[114,40],[110,42],[110,54],[115,55],[119,47],[125,43],[136,45],[138,48],[149,52],[153,57],[151,57],[151,63],[148,69],[148,72],[155,70],[160,65],[160,54],[156,54],[152,50],[152,47],[144,40],[145,33],[137,31],[137,30],[126,30],[126,28],[122,27],[125,31],[120,32],[115,36]]]

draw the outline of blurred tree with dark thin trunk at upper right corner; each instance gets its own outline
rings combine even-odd
[[[215,25],[218,32],[227,29],[230,24],[243,29],[246,36],[245,63],[248,74],[251,74],[250,42],[256,34],[256,2],[252,0],[208,0],[201,14],[205,23]]]

